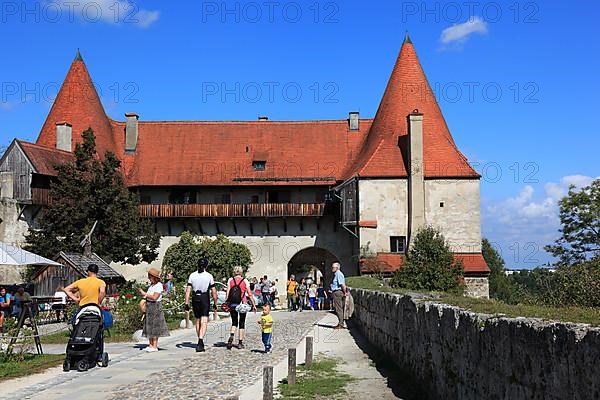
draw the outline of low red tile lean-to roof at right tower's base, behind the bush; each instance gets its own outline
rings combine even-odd
[[[454,260],[463,262],[465,274],[489,274],[490,269],[481,253],[454,253]],[[399,253],[377,253],[377,256],[364,260],[360,272],[371,273],[393,273],[398,270],[404,261]]]

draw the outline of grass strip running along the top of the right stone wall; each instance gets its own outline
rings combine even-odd
[[[507,304],[494,299],[476,299],[447,293],[418,292],[383,286],[383,281],[370,276],[347,278],[348,286],[357,289],[377,290],[380,292],[407,294],[421,293],[430,295],[439,301],[482,314],[503,314],[508,317],[542,318],[552,321],[575,322],[600,326],[600,309],[588,307],[551,307],[544,305]]]

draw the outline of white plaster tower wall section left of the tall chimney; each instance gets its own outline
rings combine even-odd
[[[377,228],[360,228],[360,245],[376,252],[390,251],[390,236],[408,236],[408,183],[406,179],[358,182],[359,220],[377,221]]]

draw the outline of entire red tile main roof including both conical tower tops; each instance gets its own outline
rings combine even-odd
[[[407,176],[406,117],[415,109],[424,114],[425,176],[477,178],[456,148],[413,45],[406,41],[375,119],[362,119],[358,132],[348,129],[347,120],[142,120],[137,149],[126,154],[125,123],[106,116],[78,55],[36,144],[55,147],[58,121],[73,125],[74,143],[92,127],[99,154],[112,150],[119,156],[129,186],[332,184],[354,175]],[[252,161],[266,161],[266,169],[255,171]]]

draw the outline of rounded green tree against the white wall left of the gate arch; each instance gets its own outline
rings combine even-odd
[[[177,281],[187,281],[189,274],[196,270],[201,257],[208,259],[208,269],[219,281],[231,277],[236,265],[246,271],[252,264],[250,249],[241,243],[232,242],[225,235],[197,240],[191,233],[183,232],[179,242],[167,249],[163,269],[172,273]]]

